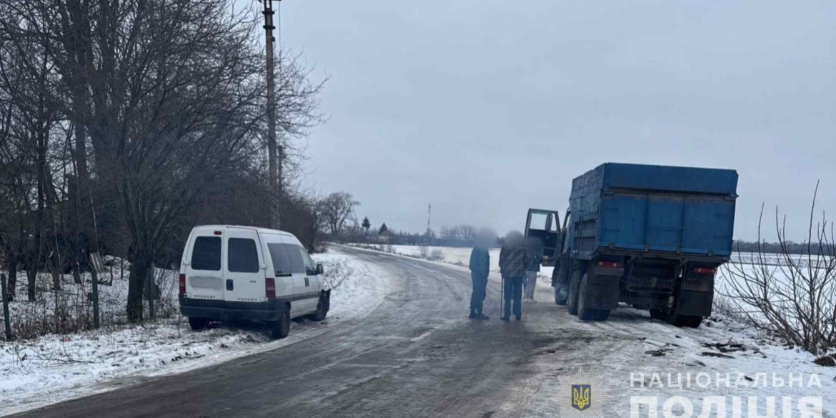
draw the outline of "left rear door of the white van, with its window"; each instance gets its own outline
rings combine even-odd
[[[223,228],[195,228],[186,248],[186,298],[224,299]]]

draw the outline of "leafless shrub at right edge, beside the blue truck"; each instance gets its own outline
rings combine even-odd
[[[808,248],[793,254],[788,248],[786,217],[775,210],[775,229],[781,251],[769,253],[759,247],[754,259],[737,259],[726,264],[726,289],[721,294],[732,305],[732,313],[748,323],[819,354],[836,347],[836,252],[833,251],[833,223],[824,214],[815,222],[813,195],[810,209]],[[763,208],[761,209],[761,220]],[[758,224],[758,242],[760,236]],[[813,245],[818,243],[818,245]],[[739,252],[738,252],[739,254]]]

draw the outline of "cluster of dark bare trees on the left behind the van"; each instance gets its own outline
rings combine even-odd
[[[110,249],[130,258],[126,312],[141,321],[148,270],[176,263],[217,191],[252,191],[229,210],[252,224],[262,211],[244,202],[298,201],[319,232],[304,196],[267,190],[260,27],[232,2],[0,4],[0,245],[12,292],[19,264],[34,298],[39,268],[59,288],[68,265],[81,282],[89,252]],[[276,97],[293,169],[303,148],[292,140],[322,120],[323,84],[297,59],[279,56]]]

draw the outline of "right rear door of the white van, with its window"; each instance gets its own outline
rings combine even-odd
[[[264,302],[264,257],[258,232],[246,228],[227,228],[227,265],[224,293],[227,302]]]

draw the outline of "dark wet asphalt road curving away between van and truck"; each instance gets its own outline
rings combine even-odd
[[[580,331],[538,325],[556,320],[558,307],[547,300],[526,306],[521,322],[499,321],[497,278],[488,291],[491,320],[471,321],[466,271],[344,251],[385,268],[396,282],[363,320],[263,354],[13,416],[519,416],[530,404],[525,387],[536,354],[557,349],[568,363],[583,355],[577,344],[584,335],[566,334]]]

